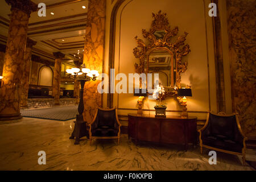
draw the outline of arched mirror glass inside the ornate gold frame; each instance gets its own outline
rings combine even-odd
[[[159,74],[159,82],[162,82],[163,86],[173,87],[176,78],[174,72],[172,72],[173,56],[164,49],[156,49],[150,53],[147,57],[146,63],[148,63],[148,73],[152,73],[152,86],[154,85],[154,73]],[[147,69],[147,67],[146,67]]]

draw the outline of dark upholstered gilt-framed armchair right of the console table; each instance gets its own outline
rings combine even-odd
[[[228,154],[242,155],[245,165],[245,140],[237,114],[208,112],[207,121],[199,130],[201,154],[203,147]]]

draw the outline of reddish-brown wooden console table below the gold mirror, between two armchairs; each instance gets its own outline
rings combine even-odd
[[[167,116],[155,118],[155,115],[128,114],[128,137],[147,142],[196,144],[196,117],[181,118]]]

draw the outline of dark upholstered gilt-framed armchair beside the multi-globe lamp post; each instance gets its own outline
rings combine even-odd
[[[93,121],[89,124],[90,144],[92,139],[118,139],[120,140],[121,123],[118,120],[117,109],[98,108]]]

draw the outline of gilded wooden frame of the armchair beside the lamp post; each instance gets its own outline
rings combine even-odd
[[[92,124],[96,121],[96,118],[97,118],[97,114],[98,114],[98,109],[100,110],[105,110],[105,111],[110,111],[110,110],[115,110],[115,118],[117,119],[117,123],[118,123],[118,126],[119,126],[119,131],[118,131],[118,134],[117,134],[117,137],[93,137],[92,136]],[[118,145],[119,145],[119,142],[120,142],[120,134],[121,134],[121,123],[119,122],[119,119],[118,119],[118,114],[117,114],[117,108],[114,107],[113,109],[102,109],[100,107],[97,107],[97,110],[96,110],[96,113],[94,115],[94,118],[93,118],[93,121],[91,123],[88,124],[89,126],[89,139],[90,139],[90,145],[92,144],[92,139],[118,139]]]

